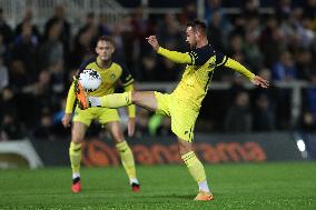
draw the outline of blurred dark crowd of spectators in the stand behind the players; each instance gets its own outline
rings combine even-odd
[[[116,26],[103,13],[89,12],[78,31],[57,6],[43,30],[32,22],[32,12],[14,27],[0,8],[0,139],[36,137],[53,140],[70,134],[62,128],[65,101],[72,76],[82,60],[93,56],[98,36],[112,36],[115,61],[124,62],[137,82],[178,81],[182,66],[152,52],[145,38],[157,34],[160,44],[186,51],[185,27],[197,18],[195,3],[178,14],[149,16],[135,8]],[[279,0],[273,13],[260,13],[256,0],[245,1],[239,14],[227,14],[221,0],[205,8],[210,44],[271,81],[267,90],[245,88],[243,77],[216,69],[214,80],[229,82],[229,90],[211,90],[206,97],[197,131],[251,132],[316,128],[316,86],[303,92],[299,120],[290,123],[290,96],[275,81],[308,81],[316,84],[316,0],[293,6]],[[170,121],[139,109],[138,136],[168,134]],[[90,132],[100,130],[92,126]]]

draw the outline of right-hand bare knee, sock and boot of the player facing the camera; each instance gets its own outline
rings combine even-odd
[[[129,183],[134,192],[140,190],[139,181],[136,177],[135,161],[131,149],[124,139],[122,131],[120,129],[119,122],[108,122],[107,130],[111,133],[112,139],[116,142],[116,148],[120,154],[121,163],[126,170],[126,173],[129,178]]]

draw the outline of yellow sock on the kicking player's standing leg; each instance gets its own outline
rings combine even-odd
[[[200,183],[201,181],[206,180],[206,174],[204,167],[201,162],[196,157],[195,152],[190,151],[184,156],[181,156],[181,159],[187,164],[190,174],[194,177],[194,179]]]

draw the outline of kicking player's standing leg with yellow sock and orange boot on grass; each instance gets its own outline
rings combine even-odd
[[[192,143],[185,141],[180,138],[178,138],[178,143],[181,159],[184,160],[190,174],[199,186],[199,193],[197,194],[195,200],[214,200],[213,193],[210,192],[207,184],[205,169],[199,159],[196,157],[195,152],[192,151]]]

